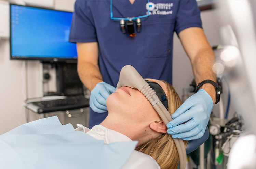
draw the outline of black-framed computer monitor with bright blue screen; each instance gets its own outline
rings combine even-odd
[[[11,59],[77,60],[71,20],[72,12],[10,4]]]

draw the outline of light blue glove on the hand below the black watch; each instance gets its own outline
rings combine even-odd
[[[173,120],[167,124],[167,132],[173,138],[183,140],[201,138],[204,135],[212,109],[212,98],[205,90],[200,89],[172,114]]]

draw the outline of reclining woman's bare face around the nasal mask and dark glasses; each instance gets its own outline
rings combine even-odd
[[[147,79],[158,83],[166,93],[166,86],[160,80]],[[107,109],[109,113],[116,113],[133,123],[148,123],[159,117],[151,103],[139,90],[130,87],[121,87],[107,98]]]

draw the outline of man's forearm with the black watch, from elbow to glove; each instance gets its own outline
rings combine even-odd
[[[214,62],[215,56],[210,47],[198,51],[196,57],[191,60],[196,84],[206,79],[216,82],[216,74],[212,70]],[[216,91],[212,84],[203,84],[200,89],[204,89],[211,96],[213,103],[215,103]]]

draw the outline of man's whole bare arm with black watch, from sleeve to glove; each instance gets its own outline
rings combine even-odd
[[[212,70],[215,56],[203,30],[187,28],[179,33],[179,37],[191,61],[196,84],[207,79],[216,82],[216,75]],[[204,89],[215,103],[216,92],[212,84],[204,84],[200,89]]]

